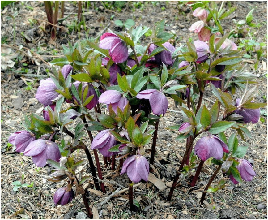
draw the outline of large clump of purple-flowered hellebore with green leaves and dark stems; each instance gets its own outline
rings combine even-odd
[[[208,159],[218,167],[203,192],[201,203],[206,192],[217,192],[225,186],[226,178],[216,187],[210,186],[221,169],[233,182],[253,179],[255,172],[242,158],[247,147],[240,145],[242,141],[238,142],[237,136],[242,140],[245,140],[244,135],[250,137],[246,123],[257,123],[259,108],[266,104],[253,102],[257,85],[248,88],[246,82],[254,84],[254,75],[244,74],[243,54],[236,51],[228,39],[229,34],[223,34],[216,19],[227,16],[222,7],[213,13],[207,1],[191,4],[191,7],[194,16],[201,19],[193,30],[202,32],[202,40],[176,48],[168,42],[173,34],[164,32],[163,19],[156,25],[148,45],[138,45],[138,41],[149,28],[143,29],[140,25],[128,32],[108,30],[100,37],[99,44],[87,42],[92,50],[82,48],[77,42],[65,48],[64,57],[51,62],[62,69],[56,71],[52,66],[49,79],[40,81],[36,98],[46,106],[43,117],[32,113],[25,120],[27,131],[15,132],[8,140],[16,151],[32,156],[36,166],[43,167],[47,163],[53,166],[49,180],[67,182],[55,192],[55,205],[65,205],[81,194],[88,216],[92,218],[83,183],[91,180],[92,187],[106,193],[101,181],[102,172],[106,170],[102,171],[100,153],[105,168],[129,178],[130,210],[134,211],[133,183],[148,180],[149,163],[153,165],[155,161],[159,122],[167,114],[168,99],[173,99],[175,106],[181,109],[183,119],[182,124],[168,129],[178,133],[175,140],[186,139],[186,149],[168,201],[172,199],[180,175],[186,178],[189,170],[197,169],[190,183],[194,186]],[[214,29],[208,26],[210,19],[213,19]],[[208,89],[215,98],[212,106],[203,104]],[[244,93],[235,100],[237,89]],[[106,105],[107,114],[101,113],[102,104]],[[91,109],[95,110],[93,114]],[[74,133],[68,129],[69,125],[74,127]],[[227,130],[232,134],[226,136]],[[90,146],[85,144],[85,132]],[[73,140],[66,144],[65,135]],[[149,144],[150,162],[146,158]],[[75,172],[83,162],[74,161],[72,153],[76,149],[85,152],[90,176]]]

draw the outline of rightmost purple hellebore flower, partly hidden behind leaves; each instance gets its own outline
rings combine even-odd
[[[240,98],[236,99],[235,106],[239,106]],[[253,102],[253,101],[251,101]],[[238,108],[234,111],[235,114],[240,114],[244,118],[241,119],[245,123],[252,122],[253,124],[257,123],[260,118],[260,109],[245,109],[245,108]]]

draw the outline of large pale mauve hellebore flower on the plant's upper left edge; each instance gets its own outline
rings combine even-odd
[[[56,89],[58,88],[52,79],[41,80],[35,98],[43,105],[50,106],[59,95]]]

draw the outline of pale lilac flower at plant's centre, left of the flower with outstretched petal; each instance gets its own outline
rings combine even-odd
[[[123,97],[121,92],[117,90],[107,90],[100,95],[99,102],[106,104],[107,108],[112,104],[113,111],[117,112],[117,106],[123,111],[128,101],[126,97]]]

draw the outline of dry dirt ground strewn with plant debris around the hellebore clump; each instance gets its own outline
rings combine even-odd
[[[67,40],[72,44],[79,39],[97,40],[107,27],[121,31],[114,20],[124,22],[128,18],[133,19],[136,25],[141,23],[150,28],[166,18],[166,30],[176,34],[172,39],[175,46],[185,45],[189,37],[197,39],[197,35],[188,30],[197,19],[192,16],[189,7],[181,7],[177,1],[128,1],[120,12],[105,8],[100,1],[88,2],[89,8],[83,13],[85,29],[81,26],[80,32],[76,32],[74,27],[77,23],[77,3],[66,1],[65,16],[70,16],[59,25],[64,28],[60,27],[62,32],[58,33],[55,42],[50,41],[48,29],[44,32],[40,28],[47,26],[43,1],[20,1],[1,10],[1,53],[4,47],[10,48],[16,62],[13,68],[1,69],[1,219],[80,219],[77,216],[79,212],[86,214],[81,196],[63,207],[55,206],[53,193],[63,182],[49,182],[47,177],[50,168],[38,169],[30,157],[16,153],[7,142],[11,133],[24,130],[25,115],[31,112],[42,114],[43,106],[34,95],[40,79],[47,78],[51,71],[48,62],[62,55],[62,44],[67,45]],[[133,2],[140,2],[140,5],[136,8]],[[256,42],[267,44],[267,1],[228,1],[227,4],[236,6],[237,9],[224,20],[223,29],[230,31],[234,27],[233,19],[236,22],[245,19],[246,14],[255,8],[253,16],[261,27],[250,28],[249,32],[252,32]],[[240,39],[233,40],[239,45]],[[144,44],[148,41],[149,37],[142,39]],[[245,50],[244,47],[242,49]],[[253,68],[257,62],[255,48],[252,58],[245,59],[248,71],[256,74],[259,83],[259,93],[255,98],[259,102],[267,102],[267,48],[263,54],[264,57],[257,63],[257,70]],[[205,101],[215,101],[209,90],[206,91]],[[181,116],[179,108],[170,100],[168,112],[160,120],[156,163],[153,167],[158,180],[138,183],[134,189],[134,198],[139,201],[141,209],[136,213],[131,214],[129,211],[128,191],[119,191],[107,199],[118,188],[128,188],[127,176],[120,176],[119,167],[116,170],[107,170],[103,161],[100,161],[104,179],[107,180],[104,182],[107,194],[94,190],[92,182],[87,184],[87,198],[91,208],[95,208],[95,218],[99,215],[100,219],[267,219],[267,107],[261,109],[264,122],[249,125],[253,138],[247,139],[249,148],[245,158],[252,163],[256,177],[251,182],[244,181],[237,185],[227,181],[227,187],[221,191],[207,193],[204,205],[200,205],[199,199],[215,170],[213,164],[204,166],[194,188],[188,187],[189,177],[194,174],[194,170],[188,177],[181,177],[172,202],[166,200],[183,156],[184,143],[174,141],[177,132],[164,127],[181,124]],[[89,144],[86,137],[85,142]],[[146,152],[148,159],[150,146]],[[75,153],[74,157],[86,158],[81,152]],[[90,175],[87,161],[80,169]],[[13,191],[12,183],[22,182],[22,175],[23,183],[30,184],[33,181],[33,187]],[[214,183],[224,177],[227,178],[218,174]],[[104,200],[104,204],[99,207]]]

